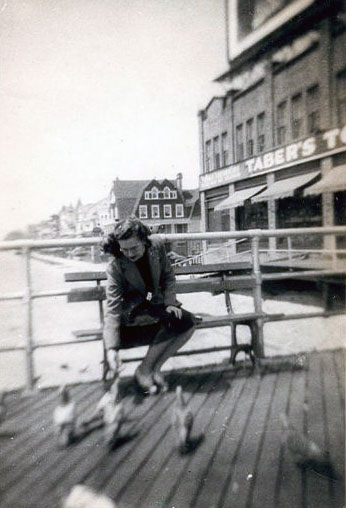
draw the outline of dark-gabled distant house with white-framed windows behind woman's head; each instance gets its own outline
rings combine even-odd
[[[198,189],[183,190],[182,174],[176,180],[120,180],[113,182],[110,203],[115,220],[135,215],[154,232],[187,233],[200,231]],[[174,249],[184,255],[200,245],[175,242]]]

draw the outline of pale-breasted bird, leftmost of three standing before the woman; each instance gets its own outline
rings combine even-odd
[[[59,446],[68,446],[75,437],[76,404],[71,400],[66,386],[62,386],[59,390],[59,404],[54,409],[53,420]]]

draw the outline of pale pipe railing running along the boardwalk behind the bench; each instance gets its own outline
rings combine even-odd
[[[323,277],[331,275],[346,275],[346,266],[342,268],[324,269],[324,270],[306,270],[306,271],[291,271],[283,273],[273,274],[262,274],[260,264],[260,249],[259,242],[263,238],[270,237],[286,237],[292,238],[301,235],[346,235],[346,227],[335,226],[326,228],[297,228],[297,229],[278,229],[278,230],[248,230],[248,231],[230,231],[230,232],[212,232],[212,233],[181,233],[181,234],[167,234],[167,235],[153,235],[162,238],[167,242],[172,241],[187,241],[187,240],[202,240],[202,241],[213,241],[213,240],[234,240],[235,242],[244,241],[248,239],[251,241],[251,265],[252,275],[255,280],[255,291],[254,291],[254,310],[256,313],[262,312],[262,281],[263,280],[279,280],[280,278],[299,278],[299,277]],[[49,291],[33,291],[32,284],[32,272],[31,272],[31,253],[39,249],[49,249],[57,247],[76,247],[76,246],[95,246],[101,243],[100,237],[97,238],[78,238],[78,239],[56,239],[56,240],[15,240],[0,242],[0,251],[21,251],[25,263],[25,289],[23,292],[18,293],[2,293],[0,294],[1,301],[19,300],[21,299],[25,308],[25,346],[13,346],[13,347],[1,347],[1,352],[9,351],[25,351],[26,359],[26,388],[32,390],[34,388],[34,364],[33,364],[33,352],[37,348],[51,347],[51,346],[64,346],[68,343],[76,343],[76,340],[65,341],[60,343],[40,343],[35,344],[34,330],[33,330],[33,301],[38,298],[48,298],[56,296],[65,296],[68,294],[66,290],[52,289]],[[304,252],[306,252],[304,250]],[[326,254],[328,250],[323,251]],[[337,251],[343,252],[343,251]],[[331,253],[335,258],[335,253]],[[203,255],[198,260],[203,261]],[[316,314],[317,315],[317,314]],[[321,315],[319,313],[318,315]],[[305,317],[304,315],[295,315],[295,318]],[[287,319],[290,317],[287,316]],[[263,346],[263,330],[261,330],[260,338]],[[89,342],[90,339],[86,339],[85,342]],[[82,342],[78,340],[78,343]]]

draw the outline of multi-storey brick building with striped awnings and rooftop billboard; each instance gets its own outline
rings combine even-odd
[[[202,230],[345,224],[344,2],[225,6],[224,93],[199,112]]]

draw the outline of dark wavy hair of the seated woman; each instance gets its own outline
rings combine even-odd
[[[149,236],[151,231],[137,217],[131,216],[124,219],[114,226],[113,233],[110,233],[107,240],[102,245],[106,254],[112,254],[118,258],[121,255],[119,240],[127,240],[132,236],[137,236],[146,246],[150,245]]]

